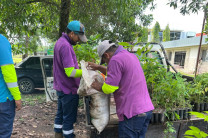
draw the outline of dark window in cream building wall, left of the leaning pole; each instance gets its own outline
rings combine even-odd
[[[186,51],[175,52],[174,64],[184,67]]]

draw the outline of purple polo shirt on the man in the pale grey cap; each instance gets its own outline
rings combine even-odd
[[[119,46],[107,67],[106,84],[119,86],[114,92],[119,121],[154,109],[144,72],[136,55]]]

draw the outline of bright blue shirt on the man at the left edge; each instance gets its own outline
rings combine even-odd
[[[14,64],[12,59],[11,45],[6,37],[0,34],[0,66],[7,64]],[[7,99],[13,100],[14,98],[7,88],[0,68],[0,103],[6,102]]]

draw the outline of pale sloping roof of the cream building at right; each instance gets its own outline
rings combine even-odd
[[[164,46],[164,48],[198,46],[200,44],[200,38],[201,37],[185,38],[180,40],[162,42],[161,44]],[[208,42],[205,42],[206,38],[208,38],[208,36],[204,35],[202,39],[202,45],[208,44]]]

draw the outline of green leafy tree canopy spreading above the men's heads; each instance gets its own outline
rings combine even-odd
[[[9,37],[32,35],[41,28],[50,39],[57,40],[58,31],[63,26],[61,3],[68,0],[2,0],[0,3],[0,32]],[[101,34],[103,39],[132,41],[133,32],[140,25],[147,26],[151,15],[143,11],[153,0],[70,0],[69,20],[80,20],[86,28],[87,36]],[[69,21],[65,21],[69,22]],[[64,26],[66,27],[66,26]]]

